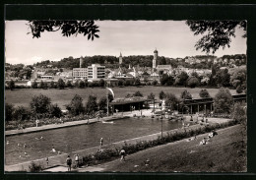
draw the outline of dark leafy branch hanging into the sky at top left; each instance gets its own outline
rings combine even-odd
[[[94,38],[99,37],[96,32],[98,32],[98,27],[95,25],[95,21],[30,21],[27,24],[30,27],[30,32],[32,37],[40,37],[41,32],[44,31],[57,31],[61,30],[63,36],[77,35],[79,33],[84,36],[88,36],[88,39],[94,40]]]

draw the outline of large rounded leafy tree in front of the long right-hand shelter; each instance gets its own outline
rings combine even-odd
[[[230,113],[233,98],[228,89],[220,89],[214,98],[214,109],[216,113]]]

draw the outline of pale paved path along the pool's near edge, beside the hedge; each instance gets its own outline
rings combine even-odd
[[[214,118],[211,118],[211,119],[214,119]],[[211,119],[209,118],[209,122],[211,122]],[[229,119],[222,119],[222,122],[224,122],[224,121],[229,121]],[[200,125],[197,124],[197,125],[190,126],[186,129],[187,130],[196,129],[199,126]],[[175,130],[163,132],[163,136],[166,133],[174,133],[174,132],[178,132],[178,131],[184,131],[184,130],[183,129],[175,129]],[[140,142],[140,141],[155,140],[159,136],[160,136],[160,133],[157,133],[157,134],[153,134],[153,135],[134,138],[134,139],[131,139],[131,140],[126,140],[126,143],[127,144],[136,144],[137,142]],[[102,149],[121,148],[123,145],[124,145],[124,141],[121,141],[121,142],[116,142],[116,143],[104,145],[104,146],[102,146]],[[44,168],[46,168],[46,167],[65,164],[68,154],[71,157],[73,157],[73,161],[74,161],[74,154],[78,153],[80,156],[85,156],[87,154],[95,153],[96,150],[99,150],[99,147],[94,147],[94,148],[90,148],[90,149],[86,149],[86,150],[78,150],[78,151],[73,151],[71,153],[63,153],[63,154],[59,154],[59,155],[50,156],[50,157],[48,157],[48,159],[49,159],[48,166],[46,165],[45,158],[40,158],[40,159],[36,159],[36,160],[32,160],[32,161],[34,161],[37,164],[39,163]],[[14,165],[5,165],[5,171],[29,171],[29,166],[30,165],[31,165],[31,161],[22,162],[22,163],[14,164]]]

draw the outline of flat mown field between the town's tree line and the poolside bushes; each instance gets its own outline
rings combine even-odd
[[[193,98],[199,97],[200,88],[189,89],[189,88],[174,88],[174,87],[128,87],[128,88],[112,88],[115,93],[115,97],[124,97],[127,93],[134,93],[137,90],[140,90],[144,96],[148,96],[151,92],[155,93],[156,97],[159,98],[160,90],[164,92],[172,92],[177,97],[180,96],[182,90],[188,90]],[[218,92],[219,89],[207,89],[212,96]],[[235,94],[235,90],[230,90],[232,94]],[[39,94],[47,95],[51,98],[52,103],[57,103],[61,109],[65,109],[65,104],[68,104],[75,94],[82,96],[84,102],[87,101],[90,94],[95,94],[97,99],[106,94],[106,90],[102,88],[88,88],[88,89],[65,89],[65,90],[35,90],[35,89],[22,89],[22,90],[6,90],[5,91],[5,100],[7,103],[12,103],[15,106],[23,105],[29,106],[32,96]]]

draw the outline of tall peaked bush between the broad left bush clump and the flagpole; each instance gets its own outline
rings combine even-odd
[[[80,95],[75,94],[71,102],[66,105],[66,109],[74,116],[84,113],[85,107],[83,105],[83,98]]]

